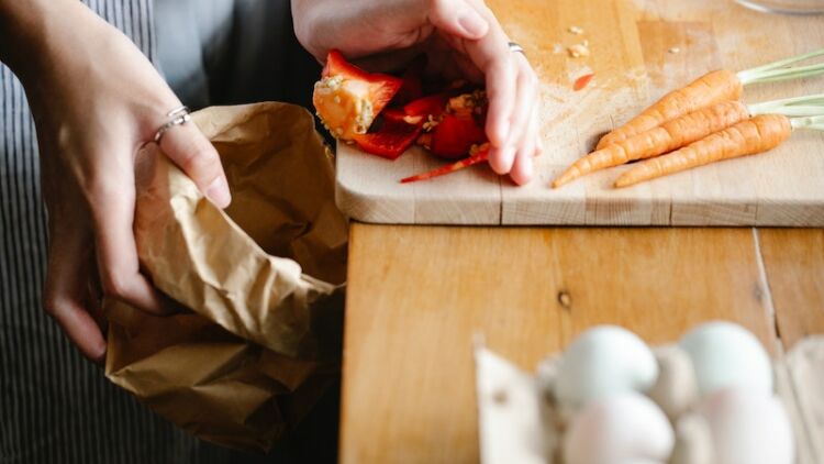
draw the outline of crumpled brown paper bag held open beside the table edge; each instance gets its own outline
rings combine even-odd
[[[138,154],[141,264],[189,311],[105,301],[105,374],[202,439],[266,450],[337,368],[347,221],[309,112],[258,103],[192,117],[221,154],[232,206],[214,207],[155,144]]]

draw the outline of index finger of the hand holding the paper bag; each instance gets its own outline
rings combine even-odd
[[[160,295],[140,269],[137,246],[134,240],[134,173],[110,173],[123,179],[121,185],[110,183],[92,194],[94,247],[100,284],[107,297],[115,298],[137,309],[164,313]]]

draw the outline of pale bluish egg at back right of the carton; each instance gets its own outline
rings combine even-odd
[[[761,343],[731,322],[709,322],[686,334],[680,345],[692,358],[701,395],[721,388],[772,391],[772,366]]]

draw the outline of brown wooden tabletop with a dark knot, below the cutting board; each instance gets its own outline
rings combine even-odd
[[[824,231],[355,224],[347,298],[342,462],[477,462],[476,334],[533,369],[593,324],[727,319],[777,354],[824,333]]]

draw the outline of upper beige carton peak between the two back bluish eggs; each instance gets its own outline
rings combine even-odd
[[[692,360],[678,345],[657,349],[655,358],[658,362],[658,380],[648,396],[670,420],[675,420],[698,401]]]

